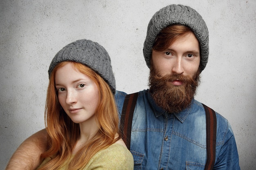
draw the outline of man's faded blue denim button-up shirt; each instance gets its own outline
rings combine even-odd
[[[126,93],[117,91],[119,117]],[[216,113],[215,170],[240,170],[233,131]],[[174,114],[158,107],[148,90],[140,91],[132,119],[130,152],[134,170],[204,170],[207,159],[206,117],[202,104]]]

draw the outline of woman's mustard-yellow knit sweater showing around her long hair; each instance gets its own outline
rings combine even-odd
[[[50,159],[44,159],[39,167],[49,161]],[[68,170],[67,164],[68,161],[58,170]],[[120,144],[112,144],[108,148],[97,152],[83,170],[133,170],[133,157],[126,147]]]

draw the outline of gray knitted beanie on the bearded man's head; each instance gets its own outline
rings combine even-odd
[[[144,57],[148,68],[150,68],[150,57],[152,47],[157,35],[167,26],[182,24],[189,26],[195,33],[200,44],[200,70],[203,71],[209,55],[209,33],[201,15],[191,7],[183,5],[168,5],[157,11],[148,24],[146,40],[144,42]]]

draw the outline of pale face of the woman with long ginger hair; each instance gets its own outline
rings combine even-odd
[[[58,100],[70,119],[77,124],[95,124],[99,90],[94,81],[68,63],[56,71],[55,84]]]

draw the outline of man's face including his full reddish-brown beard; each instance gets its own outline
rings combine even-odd
[[[150,93],[158,106],[178,113],[191,103],[199,84],[200,48],[193,33],[162,52],[152,51]]]

